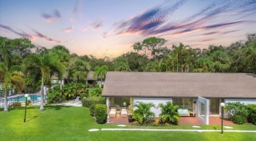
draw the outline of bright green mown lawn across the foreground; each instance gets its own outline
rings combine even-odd
[[[191,126],[142,127],[116,124],[99,125],[89,115],[89,108],[72,106],[28,106],[26,123],[24,107],[0,108],[1,140],[255,140],[256,133],[198,133],[178,131],[97,131],[102,128],[145,128],[145,129],[192,129]],[[256,130],[255,125],[234,125],[234,130]],[[203,125],[202,129],[217,129],[220,126]]]

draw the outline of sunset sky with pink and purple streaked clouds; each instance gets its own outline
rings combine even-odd
[[[256,33],[256,0],[0,0],[0,36],[98,58],[149,37],[203,49],[248,33]]]

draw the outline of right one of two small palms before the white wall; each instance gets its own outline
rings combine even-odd
[[[159,117],[161,117],[161,120],[165,123],[175,123],[177,124],[179,122],[179,113],[178,105],[173,105],[172,102],[166,102],[166,104],[159,104],[159,107],[161,108],[161,114]]]

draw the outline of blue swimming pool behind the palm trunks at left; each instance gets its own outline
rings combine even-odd
[[[44,95],[43,99],[47,99],[47,95]],[[28,95],[28,100],[30,101],[40,101],[41,95]],[[24,102],[26,98],[24,95],[14,95],[12,97],[8,97],[8,102]]]

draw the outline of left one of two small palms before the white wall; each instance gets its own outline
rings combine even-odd
[[[140,117],[144,117],[145,123],[149,121],[150,117],[155,116],[154,112],[150,111],[151,107],[155,107],[155,105],[152,102],[139,102],[139,104],[135,104],[134,106],[137,107],[134,113],[139,115]]]

